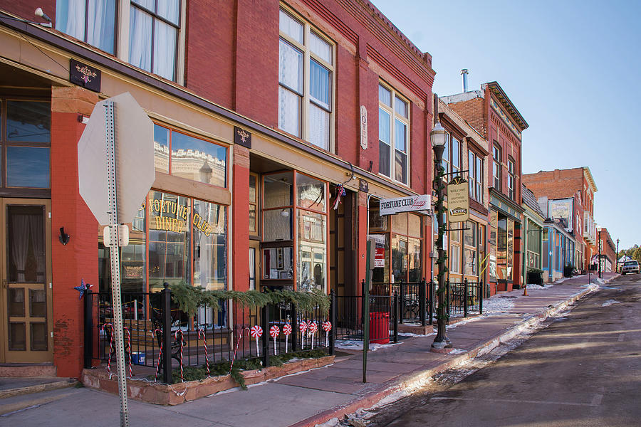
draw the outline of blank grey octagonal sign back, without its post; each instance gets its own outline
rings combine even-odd
[[[130,93],[98,102],[78,142],[80,196],[100,225],[109,225],[105,103],[114,103],[118,223],[135,218],[155,180],[154,125]]]

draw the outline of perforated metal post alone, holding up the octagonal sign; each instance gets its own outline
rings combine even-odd
[[[118,394],[120,395],[120,426],[129,427],[127,408],[127,377],[125,374],[125,339],[123,337],[123,305],[120,297],[120,247],[118,246],[118,182],[116,181],[115,156],[115,106],[113,101],[105,102],[105,139],[107,144],[107,189],[109,199],[111,259],[111,306],[113,308],[113,329],[115,333],[116,365],[118,372]]]

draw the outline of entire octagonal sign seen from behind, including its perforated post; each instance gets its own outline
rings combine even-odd
[[[111,259],[113,334],[120,395],[120,426],[129,426],[120,295],[120,246],[155,180],[154,125],[130,93],[98,102],[78,141],[78,192],[98,224]],[[167,332],[165,332],[167,333]]]

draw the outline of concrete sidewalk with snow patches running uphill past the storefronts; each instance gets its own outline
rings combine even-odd
[[[604,273],[609,282],[617,275]],[[448,327],[447,335],[457,351],[429,352],[434,336],[404,337],[400,344],[368,354],[368,384],[363,377],[362,352],[338,357],[329,367],[315,369],[250,386],[248,391],[225,391],[179,406],[155,406],[130,400],[131,426],[314,426],[330,418],[342,418],[368,408],[396,391],[417,386],[479,352],[536,325],[595,290],[588,276],[565,280],[549,288],[503,292],[484,300],[484,315]],[[494,307],[494,308],[493,308]],[[174,391],[181,393],[180,384]],[[81,404],[79,404],[81,402]],[[118,425],[118,396],[78,389],[78,393],[54,403],[0,418],[0,424],[16,426]]]

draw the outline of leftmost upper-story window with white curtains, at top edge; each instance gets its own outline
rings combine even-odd
[[[56,1],[56,30],[115,53],[116,0]]]

